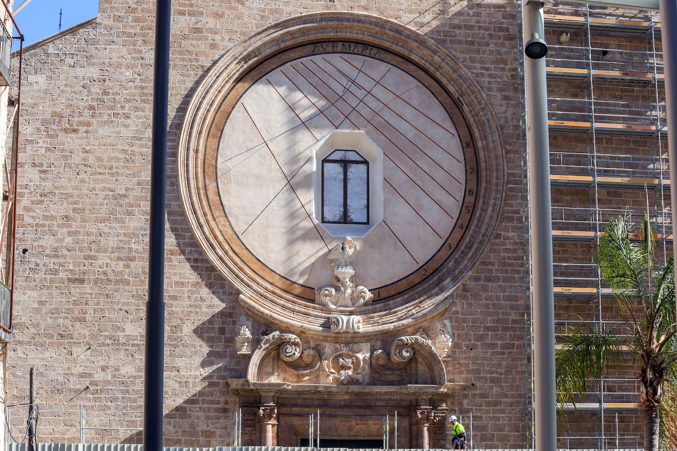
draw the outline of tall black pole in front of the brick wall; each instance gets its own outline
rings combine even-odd
[[[167,194],[170,11],[171,0],[157,0],[150,160],[146,371],[144,375],[145,451],[162,451],[162,391],[165,379],[165,196]]]

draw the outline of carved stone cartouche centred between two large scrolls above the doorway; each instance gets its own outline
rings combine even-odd
[[[369,354],[363,354],[357,343],[334,343],[322,356],[322,369],[329,382],[362,383],[369,375],[369,366]]]

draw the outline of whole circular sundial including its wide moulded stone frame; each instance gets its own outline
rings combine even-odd
[[[364,154],[369,208],[382,214],[362,224],[352,262],[374,300],[350,314],[365,333],[406,325],[441,306],[496,227],[494,117],[471,76],[422,35],[362,14],[309,16],[240,43],[196,91],[179,145],[188,218],[249,308],[326,331],[330,312],[315,304],[315,288],[334,282],[326,256],[342,227],[360,235],[318,217],[333,185],[318,191],[313,151]],[[334,130],[359,133],[334,142]]]

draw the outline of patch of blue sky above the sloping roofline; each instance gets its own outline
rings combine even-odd
[[[14,7],[22,2],[23,0],[14,0]],[[24,45],[59,32],[59,9],[63,10],[61,29],[65,30],[96,16],[99,12],[99,0],[31,0],[14,16],[24,33]]]

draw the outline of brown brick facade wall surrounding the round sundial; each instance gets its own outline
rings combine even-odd
[[[503,1],[174,1],[169,112],[165,445],[232,444],[240,377],[236,291],[194,240],[177,187],[183,114],[231,45],[311,11],[378,14],[426,34],[475,76],[506,148],[503,217],[481,264],[451,296],[450,406],[473,412],[475,446],[523,448],[527,427],[517,24]],[[96,22],[24,55],[15,333],[9,402],[37,367],[38,439],[77,442],[87,425],[141,427],[154,4],[102,0]],[[500,149],[496,149],[500,151]],[[22,252],[26,250],[26,252]],[[467,426],[466,426],[467,427]],[[13,412],[12,433],[24,419]],[[88,431],[87,442],[139,442]]]

